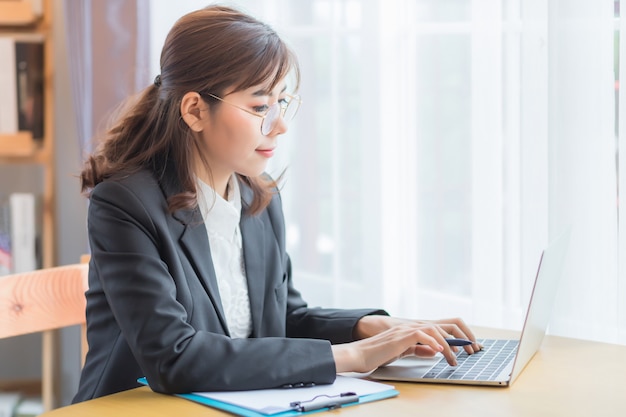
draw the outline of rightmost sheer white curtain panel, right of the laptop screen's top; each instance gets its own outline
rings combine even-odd
[[[619,335],[624,321],[619,316],[614,87],[619,57],[613,3],[549,2],[550,236],[573,225],[551,331],[626,343]]]

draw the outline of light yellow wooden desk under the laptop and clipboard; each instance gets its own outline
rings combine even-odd
[[[479,337],[515,332],[476,329]],[[626,398],[626,346],[547,336],[510,388],[393,383],[400,395],[319,416],[618,416]],[[595,364],[595,365],[594,365]],[[147,387],[52,410],[42,417],[211,417],[230,414]]]

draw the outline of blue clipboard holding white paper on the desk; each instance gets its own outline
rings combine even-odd
[[[146,378],[139,383],[148,385]],[[392,398],[393,385],[338,375],[333,384],[301,388],[174,394],[243,417],[291,417]]]

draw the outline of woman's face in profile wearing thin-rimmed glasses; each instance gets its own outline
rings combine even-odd
[[[220,97],[225,102],[211,103],[217,108],[208,112],[207,125],[201,134],[216,186],[227,182],[233,173],[249,177],[263,173],[274,155],[278,135],[287,131],[287,125],[279,118],[267,136],[261,133],[260,116],[286,96],[284,82],[271,91],[268,88],[255,86]]]

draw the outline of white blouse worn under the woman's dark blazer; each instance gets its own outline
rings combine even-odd
[[[228,182],[227,197],[228,201],[198,180],[198,206],[209,236],[228,330],[232,338],[245,338],[252,331],[252,315],[239,229],[241,194],[235,176]]]

